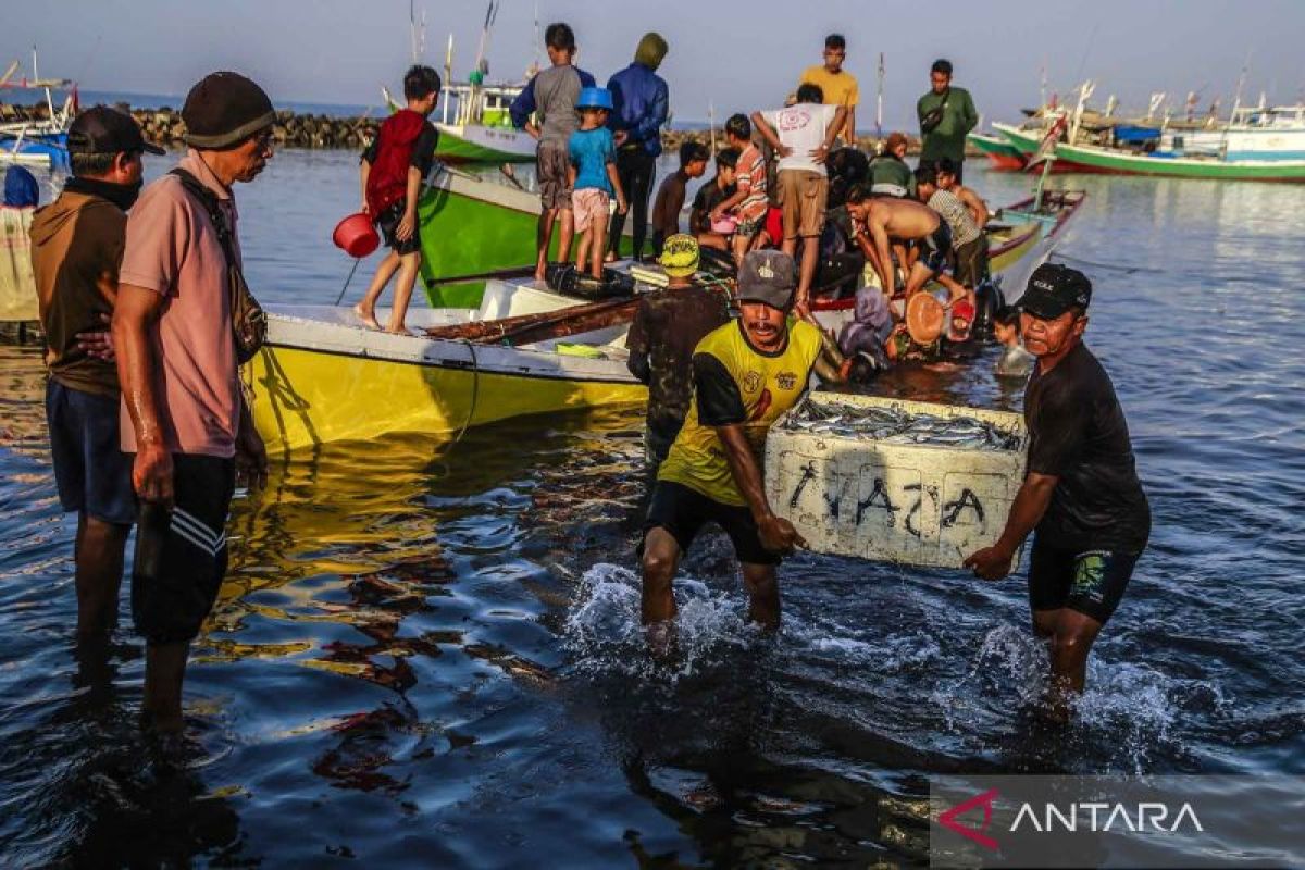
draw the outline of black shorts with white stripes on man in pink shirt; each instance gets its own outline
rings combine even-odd
[[[172,454],[171,511],[142,503],[132,562],[132,620],[151,644],[194,639],[227,573],[235,463]]]

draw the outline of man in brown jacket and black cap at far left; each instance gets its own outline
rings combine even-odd
[[[147,143],[125,112],[97,106],[68,130],[73,177],[31,222],[31,266],[46,334],[46,417],[55,484],[77,511],[77,635],[103,639],[117,614],[123,550],[136,522],[132,464],[119,442],[117,369],[107,323],[117,296],[127,210]]]

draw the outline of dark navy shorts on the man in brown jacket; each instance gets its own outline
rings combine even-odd
[[[46,386],[46,421],[55,462],[59,503],[104,523],[136,522],[132,457],[117,437],[119,398],[64,386]]]

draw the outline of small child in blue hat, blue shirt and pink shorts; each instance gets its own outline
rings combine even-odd
[[[586,266],[594,278],[603,277],[603,252],[607,250],[607,219],[611,198],[616,197],[616,210],[625,214],[625,192],[616,172],[616,141],[607,129],[607,115],[612,111],[612,94],[606,87],[586,87],[576,103],[579,110],[579,129],[568,143],[570,157],[569,180],[572,211],[579,245],[576,267]]]

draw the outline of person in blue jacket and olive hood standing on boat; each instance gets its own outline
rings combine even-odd
[[[662,125],[666,124],[669,95],[666,80],[656,74],[668,46],[658,33],[646,33],[634,51],[634,63],[612,76],[613,111],[607,120],[616,140],[616,172],[634,215],[634,258],[643,256],[649,228],[649,194],[662,154]],[[612,215],[607,237],[609,260],[615,260],[625,230],[625,215]]]

